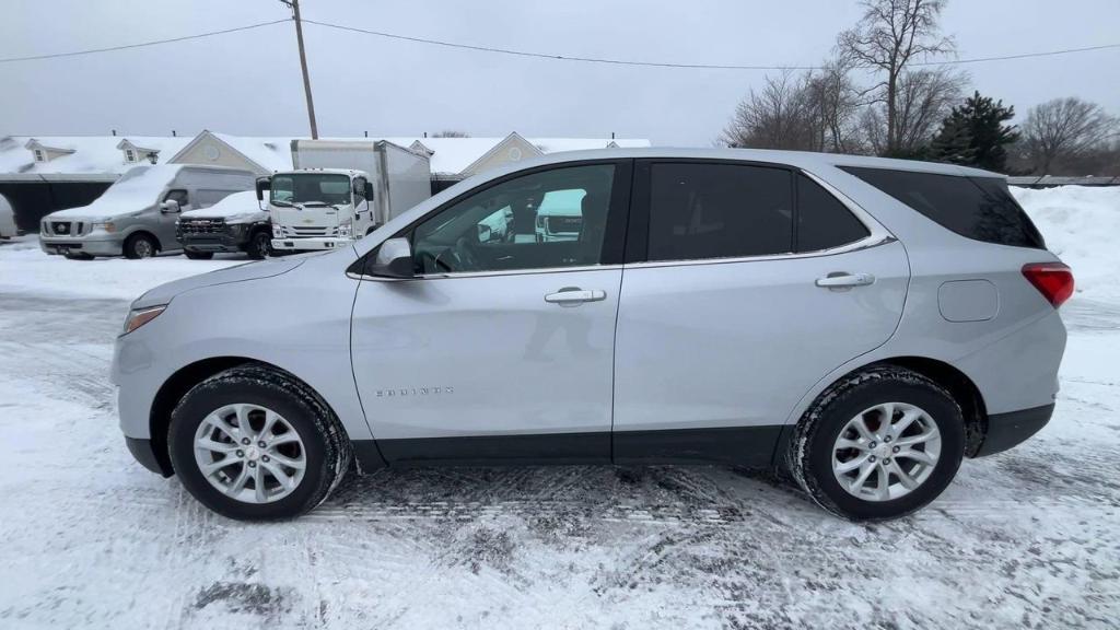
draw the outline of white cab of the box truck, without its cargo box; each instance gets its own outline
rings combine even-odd
[[[373,185],[362,170],[307,168],[258,182],[256,198],[269,193],[272,248],[325,250],[345,247],[373,231]]]

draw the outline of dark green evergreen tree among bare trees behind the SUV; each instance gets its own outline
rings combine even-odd
[[[1015,126],[1004,124],[1015,118],[1014,106],[976,92],[941,123],[933,139],[933,158],[988,170],[1007,167],[1007,145],[1019,139]]]

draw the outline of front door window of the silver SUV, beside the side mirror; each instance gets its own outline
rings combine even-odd
[[[421,274],[598,265],[614,165],[556,168],[503,182],[413,232]]]

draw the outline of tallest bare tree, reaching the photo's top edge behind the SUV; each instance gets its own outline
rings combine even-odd
[[[932,105],[940,100],[943,89],[952,83],[946,82],[945,73],[931,75],[908,70],[915,59],[955,52],[952,38],[941,36],[937,26],[945,1],[864,0],[864,17],[855,28],[841,33],[837,40],[841,59],[857,67],[870,68],[881,76],[864,93],[884,111],[861,117],[865,129],[875,121],[886,124],[881,133],[875,133],[881,137],[878,142],[880,152],[898,154],[913,148],[913,139],[921,131],[932,129],[924,127],[931,112],[921,103]]]

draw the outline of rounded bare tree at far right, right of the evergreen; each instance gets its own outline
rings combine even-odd
[[[1120,122],[1096,103],[1067,98],[1032,108],[1023,123],[1023,142],[1036,173],[1056,163],[1100,151],[1120,133]]]

